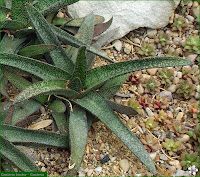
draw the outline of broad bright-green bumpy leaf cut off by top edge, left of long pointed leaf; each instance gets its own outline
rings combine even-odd
[[[28,16],[24,1],[12,1],[11,18],[12,20],[28,23]]]

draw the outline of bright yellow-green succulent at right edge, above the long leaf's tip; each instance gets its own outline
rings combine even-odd
[[[197,35],[189,36],[186,39],[186,41],[182,44],[182,46],[184,47],[185,51],[198,53],[199,52],[199,36]]]

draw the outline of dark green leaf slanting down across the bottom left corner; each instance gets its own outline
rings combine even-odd
[[[23,152],[3,136],[1,136],[1,155],[22,171],[39,171],[38,167]]]

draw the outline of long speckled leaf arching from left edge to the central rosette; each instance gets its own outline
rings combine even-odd
[[[50,79],[70,79],[71,76],[64,70],[53,65],[34,60],[32,58],[23,57],[15,54],[1,54],[1,64],[12,66],[23,71],[29,72],[39,78]]]

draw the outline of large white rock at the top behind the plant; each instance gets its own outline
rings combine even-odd
[[[105,21],[113,17],[110,30],[118,31],[107,43],[119,39],[139,27],[158,29],[166,26],[179,1],[79,1],[67,6],[72,18],[87,16],[90,12],[104,16]]]

